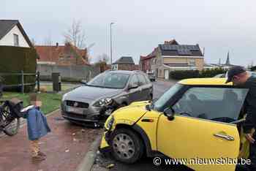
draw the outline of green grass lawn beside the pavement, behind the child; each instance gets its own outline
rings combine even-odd
[[[29,105],[29,94],[20,94],[15,92],[4,92],[4,96],[1,97],[1,100],[12,99],[14,97],[23,100],[24,107]],[[60,107],[61,104],[61,94],[48,94],[41,93],[39,94],[39,99],[42,100],[41,110],[43,113],[48,114],[53,110],[56,110]]]

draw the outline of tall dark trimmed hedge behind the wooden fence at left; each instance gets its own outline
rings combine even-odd
[[[37,51],[28,47],[0,46],[0,73],[35,73],[37,69]],[[21,83],[20,75],[2,76],[6,86]],[[24,76],[24,83],[35,83],[35,76]],[[12,88],[20,90],[20,87]],[[25,86],[25,91],[34,90],[34,86]]]

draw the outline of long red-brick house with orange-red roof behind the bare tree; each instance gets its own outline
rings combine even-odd
[[[39,55],[37,64],[53,64],[61,66],[89,65],[86,49],[78,49],[70,43],[54,46],[34,46]]]

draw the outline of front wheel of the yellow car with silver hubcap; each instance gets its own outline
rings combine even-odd
[[[117,129],[110,139],[110,147],[116,160],[132,164],[143,155],[143,142],[129,129]]]

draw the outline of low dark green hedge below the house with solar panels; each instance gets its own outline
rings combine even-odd
[[[170,72],[170,78],[174,80],[182,80],[194,77],[214,77],[215,75],[223,74],[227,72],[226,69],[216,68],[216,69],[203,69],[199,70],[178,70]]]

